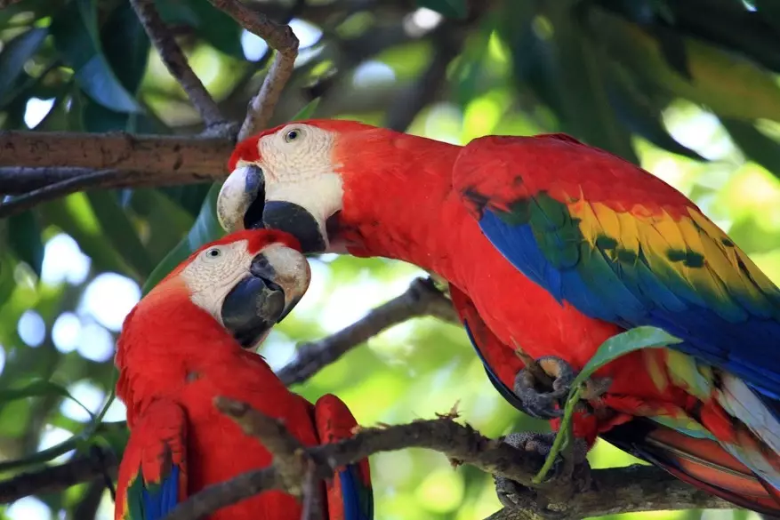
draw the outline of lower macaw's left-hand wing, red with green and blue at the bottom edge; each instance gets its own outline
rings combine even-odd
[[[186,498],[187,417],[179,404],[149,405],[119,466],[117,520],[160,520]]]

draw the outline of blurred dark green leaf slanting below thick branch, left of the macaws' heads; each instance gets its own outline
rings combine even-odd
[[[114,194],[107,191],[87,191],[86,196],[106,240],[142,278],[149,276],[155,266],[149,260],[149,254],[141,244],[133,223],[117,203]]]

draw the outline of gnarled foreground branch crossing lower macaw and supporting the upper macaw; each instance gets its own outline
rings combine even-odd
[[[223,401],[229,402],[224,398]],[[242,420],[245,422],[278,425],[277,420],[269,419],[246,404],[232,405],[242,409]],[[252,419],[248,419],[249,417]],[[511,478],[519,484],[531,483],[536,471],[543,464],[541,455],[536,452],[520,452],[500,440],[488,439],[468,424],[455,422],[455,417],[455,413],[448,413],[437,420],[415,420],[398,426],[363,428],[350,439],[315,446],[305,452],[310,456],[310,460],[315,461],[315,473],[319,479],[330,478],[335,468],[358,462],[374,453],[414,447],[444,453],[454,465],[466,463],[487,473]],[[290,434],[287,433],[286,436]],[[555,511],[503,509],[491,518],[543,520],[554,513],[561,520],[574,520],[616,512],[733,508],[725,500],[697,491],[662,469],[652,466],[592,470],[591,482],[591,488],[579,493],[577,500],[566,505],[556,504],[558,508]],[[219,508],[271,489],[287,489],[276,458],[269,468],[249,471],[227,482],[206,487],[174,509],[166,520],[198,520]]]

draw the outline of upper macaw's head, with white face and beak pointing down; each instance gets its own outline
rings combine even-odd
[[[382,156],[390,147],[378,145],[403,135],[319,119],[284,124],[242,141],[217,200],[222,228],[280,229],[296,236],[305,253],[333,251],[328,233],[344,209],[346,188],[359,183],[360,173],[372,164],[392,160]]]

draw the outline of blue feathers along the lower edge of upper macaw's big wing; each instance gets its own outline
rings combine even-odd
[[[686,289],[681,294],[671,292],[647,265],[641,265],[640,259],[635,264],[638,266],[635,272],[639,276],[634,277],[632,283],[641,290],[631,292],[631,298],[628,298],[623,278],[608,265],[594,269],[599,275],[594,279],[585,279],[574,268],[559,269],[554,266],[535,241],[530,224],[512,226],[496,212],[486,209],[479,220],[479,227],[504,258],[551,292],[557,300],[566,300],[587,316],[626,329],[638,325],[661,327],[684,340],[674,348],[733,372],[744,378],[752,388],[773,399],[780,399],[780,349],[773,347],[780,345],[780,323],[777,321],[759,316],[751,316],[741,322],[724,319],[716,310],[691,301],[702,301],[700,296],[688,298],[692,289]],[[583,244],[583,247],[589,246]],[[591,252],[589,266],[606,262],[597,254],[600,253]],[[655,304],[656,301],[659,304]],[[765,347],[742,348],[744,345]]]

